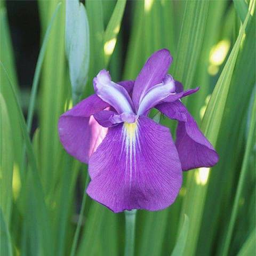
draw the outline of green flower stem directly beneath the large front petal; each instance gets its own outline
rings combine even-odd
[[[125,211],[125,249],[124,256],[134,255],[135,220],[137,210]]]

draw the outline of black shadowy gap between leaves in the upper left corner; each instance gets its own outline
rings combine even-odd
[[[37,1],[6,1],[19,85],[30,89],[40,46]]]

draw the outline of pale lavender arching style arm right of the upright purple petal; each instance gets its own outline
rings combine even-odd
[[[161,84],[151,87],[140,101],[138,115],[143,115],[157,103],[175,92],[174,79],[171,75],[166,75]]]

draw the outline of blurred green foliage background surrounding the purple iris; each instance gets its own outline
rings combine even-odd
[[[70,255],[86,183],[87,166],[65,153],[57,131],[59,116],[72,105],[66,3],[38,5],[42,46],[27,120],[5,3],[0,5],[1,256]],[[211,170],[183,174],[180,195],[169,208],[138,211],[135,255],[254,255],[254,0],[97,0],[85,1],[85,8],[90,65],[81,98],[93,92],[100,69],[110,70],[114,81],[135,79],[149,55],[165,47],[174,59],[170,74],[185,89],[201,87],[183,102],[220,155]],[[129,37],[122,23],[127,13]],[[33,115],[39,123],[30,139]],[[166,118],[161,123],[175,129]],[[123,213],[88,197],[82,217],[75,255],[123,254]]]

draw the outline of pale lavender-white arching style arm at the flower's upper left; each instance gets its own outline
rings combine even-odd
[[[93,79],[95,93],[110,106],[116,109],[117,113],[133,113],[133,102],[124,86],[111,81],[107,70],[103,69]]]

